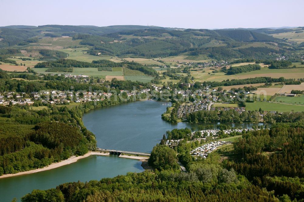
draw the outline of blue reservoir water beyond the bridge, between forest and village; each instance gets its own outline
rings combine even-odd
[[[165,122],[161,119],[161,114],[166,111],[168,105],[163,104],[164,102],[146,100],[106,106],[85,113],[82,121],[85,127],[95,134],[99,148],[150,153],[153,146],[160,143],[167,130],[198,125],[186,122],[177,124]],[[213,125],[216,129],[217,123]],[[230,123],[227,125],[252,128],[254,124]]]

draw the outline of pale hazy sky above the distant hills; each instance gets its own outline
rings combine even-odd
[[[155,25],[214,29],[304,26],[304,0],[0,0],[0,26]]]

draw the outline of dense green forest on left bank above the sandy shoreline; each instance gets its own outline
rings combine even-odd
[[[94,135],[78,128],[81,112],[55,106],[40,111],[1,106],[0,175],[41,168],[94,150]]]

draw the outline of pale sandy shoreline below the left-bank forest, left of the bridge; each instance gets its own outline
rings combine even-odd
[[[30,173],[37,173],[37,172],[41,172],[41,171],[45,171],[45,170],[51,170],[51,169],[54,169],[54,168],[58,168],[58,167],[61,167],[61,166],[68,165],[70,163],[75,163],[79,159],[83,159],[83,158],[89,157],[91,155],[107,156],[107,155],[109,155],[109,153],[88,152],[88,153],[86,153],[83,156],[79,156],[79,157],[72,156],[72,157],[70,157],[70,158],[68,158],[66,160],[62,160],[62,161],[57,162],[57,163],[52,163],[49,166],[46,166],[46,167],[43,167],[43,168],[38,168],[38,169],[35,169],[35,170],[29,170],[29,171],[19,172],[19,173],[15,173],[15,174],[5,174],[5,175],[0,176],[0,179],[1,178],[6,178],[6,177],[19,176],[19,175],[26,175],[26,174],[30,174]]]

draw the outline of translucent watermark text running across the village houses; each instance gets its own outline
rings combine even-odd
[[[248,102],[254,100],[266,101],[267,92],[265,90],[255,90],[254,93],[247,92],[245,90],[239,90],[237,92],[229,91],[216,91],[216,90],[168,90],[168,89],[136,89],[133,86],[133,90],[118,90],[108,87],[106,91],[92,90],[90,87],[88,90],[74,90],[74,86],[70,87],[70,90],[40,90],[39,92],[33,92],[34,98],[40,101],[74,101],[74,102],[88,102],[88,101],[102,101],[105,99],[111,99],[115,102],[128,102],[128,101],[145,101],[152,99],[155,101],[170,101],[174,99],[178,102],[196,101],[203,102],[206,100],[214,102]],[[33,94],[32,93],[32,94]]]

